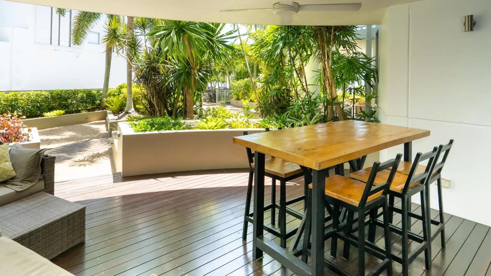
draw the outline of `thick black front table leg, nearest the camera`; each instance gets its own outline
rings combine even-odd
[[[312,172],[312,276],[324,275],[324,195],[327,170]],[[254,203],[255,204],[255,203]]]

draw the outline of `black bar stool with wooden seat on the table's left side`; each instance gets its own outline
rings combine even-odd
[[[266,128],[266,131],[270,131],[269,128]],[[244,135],[247,135],[247,131],[244,131]],[[253,221],[253,212],[250,212],[250,201],[252,195],[252,183],[254,181],[254,154],[252,153],[250,148],[246,148],[247,151],[247,159],[249,161],[249,182],[247,183],[247,198],[246,198],[246,212],[244,215],[244,228],[242,232],[242,238],[246,239],[247,237],[247,226],[248,223],[252,223]],[[304,184],[304,194],[302,196],[286,200],[286,182],[293,180],[295,178],[303,176],[303,172],[300,169],[300,166],[280,158],[267,158],[265,160],[264,165],[264,175],[271,178],[272,181],[272,190],[271,190],[271,203],[264,206],[264,210],[271,209],[271,224],[275,225],[275,211],[278,208],[278,225],[279,232],[270,227],[264,226],[265,230],[272,233],[273,235],[280,238],[280,245],[282,248],[286,248],[286,240],[297,232],[297,228],[291,229],[290,231],[286,231],[286,214],[290,214],[298,219],[303,218],[303,214],[299,213],[296,210],[293,210],[287,207],[290,204],[302,201],[305,199],[305,195],[307,193],[307,185]],[[280,202],[276,203],[276,180],[280,182]]]

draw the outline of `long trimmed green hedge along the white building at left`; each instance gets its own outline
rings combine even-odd
[[[0,93],[0,114],[14,112],[39,117],[54,110],[75,113],[99,105],[101,90],[69,89]]]

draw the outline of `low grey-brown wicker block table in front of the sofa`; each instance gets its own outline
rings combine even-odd
[[[85,241],[85,206],[45,192],[0,206],[0,231],[52,259]]]

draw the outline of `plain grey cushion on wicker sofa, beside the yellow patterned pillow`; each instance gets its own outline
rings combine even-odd
[[[37,183],[41,176],[41,159],[49,149],[24,149],[19,143],[10,148],[10,162],[17,176],[4,182],[2,186],[15,191],[23,191]]]

